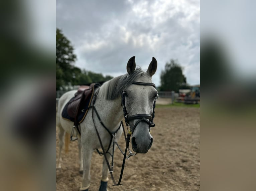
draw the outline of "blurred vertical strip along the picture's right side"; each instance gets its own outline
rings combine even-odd
[[[201,189],[255,190],[255,1],[202,1]]]

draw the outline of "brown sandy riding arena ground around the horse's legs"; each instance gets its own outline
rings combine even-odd
[[[154,142],[146,154],[137,154],[126,160],[122,186],[108,190],[159,190],[196,191],[200,188],[200,108],[165,107],[155,109]],[[57,129],[56,129],[57,133]],[[56,153],[58,138],[56,135]],[[119,145],[125,148],[123,136]],[[91,164],[89,190],[100,186],[102,158],[95,151]],[[116,150],[114,176],[119,178],[122,154]],[[77,141],[71,142],[69,153],[62,153],[62,169],[56,171],[57,191],[79,191],[82,175],[79,174]]]

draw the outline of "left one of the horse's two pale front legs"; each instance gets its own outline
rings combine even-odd
[[[90,186],[90,180],[91,180],[90,167],[91,167],[91,158],[92,158],[93,150],[88,149],[88,148],[89,148],[89,146],[82,147],[84,169],[83,169],[82,186],[80,188],[81,191],[88,191],[88,188]]]

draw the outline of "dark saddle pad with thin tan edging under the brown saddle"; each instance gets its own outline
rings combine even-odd
[[[78,121],[78,123],[83,122],[83,120],[86,117],[86,114],[89,110],[89,107],[90,107],[92,99],[93,99],[94,89],[95,89],[95,84],[92,86],[92,92],[90,93],[90,95],[87,96],[87,98],[85,100],[81,100],[80,107],[78,108],[79,111],[77,112],[77,120],[76,121]],[[62,114],[61,114],[62,118],[66,119],[66,120],[69,120],[69,121],[75,121],[75,117],[70,116],[69,113],[68,113],[68,105],[71,104],[72,102],[76,101],[77,97],[78,96],[72,97],[69,100],[69,102],[65,105],[65,107],[62,111]]]

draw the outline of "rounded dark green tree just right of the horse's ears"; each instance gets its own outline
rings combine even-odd
[[[187,87],[186,77],[182,74],[182,68],[177,60],[170,60],[165,64],[165,70],[161,72],[160,91],[174,91]]]

